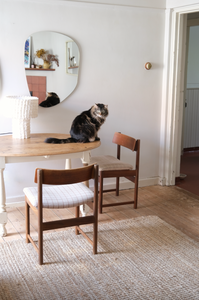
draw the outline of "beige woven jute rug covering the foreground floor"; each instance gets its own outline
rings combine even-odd
[[[0,299],[199,299],[199,243],[158,217],[99,224],[97,255],[74,228],[44,238],[43,266],[25,240],[0,245]]]

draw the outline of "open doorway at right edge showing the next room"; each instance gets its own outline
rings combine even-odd
[[[182,153],[176,185],[199,196],[199,12],[187,14],[186,52]]]

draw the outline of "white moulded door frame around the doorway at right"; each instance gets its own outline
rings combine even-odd
[[[184,111],[187,14],[199,4],[166,10],[159,174],[161,185],[175,185],[180,175]]]

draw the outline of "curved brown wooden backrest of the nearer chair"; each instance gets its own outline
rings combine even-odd
[[[98,166],[90,165],[82,168],[76,169],[66,169],[66,170],[50,170],[50,169],[40,169],[35,170],[34,182],[38,183],[41,181],[42,184],[72,184],[87,181],[89,179],[96,179],[98,176]]]

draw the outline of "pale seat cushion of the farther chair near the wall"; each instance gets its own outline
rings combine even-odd
[[[133,166],[123,163],[121,160],[111,155],[93,156],[90,158],[90,164],[98,164],[99,171],[105,170],[133,170]]]

